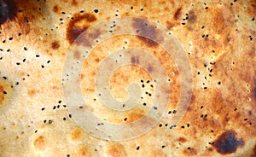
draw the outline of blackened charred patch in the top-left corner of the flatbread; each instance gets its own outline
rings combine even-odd
[[[17,9],[14,0],[0,0],[0,25],[6,21],[15,19]]]

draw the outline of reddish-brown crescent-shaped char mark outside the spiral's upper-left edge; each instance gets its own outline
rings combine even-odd
[[[90,22],[96,20],[96,16],[84,13],[83,15],[77,14],[73,16],[73,20],[70,20],[67,25],[67,40],[69,44],[73,44],[73,41],[79,37],[79,34],[84,32],[89,25]],[[89,41],[84,41],[85,44],[89,44]]]

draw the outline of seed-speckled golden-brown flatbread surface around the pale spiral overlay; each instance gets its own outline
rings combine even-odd
[[[0,18],[1,157],[256,156],[254,0],[0,2],[9,7],[8,13],[1,8],[8,18]],[[125,113],[90,105],[100,104],[93,82],[96,69],[115,49],[148,50],[165,67],[172,89],[158,125],[136,139],[112,142],[90,136],[73,122],[62,95],[62,68],[81,32],[126,16],[157,21],[177,37],[192,68],[193,96],[182,121],[171,127],[169,117],[178,114],[174,110],[180,91],[172,57],[146,38],[109,38],[93,49],[81,72],[91,112],[125,124],[143,117],[152,102],[153,96],[143,94],[137,108]],[[128,66],[113,73],[113,96],[125,100],[131,82],[144,84],[143,93],[154,93],[148,73]]]

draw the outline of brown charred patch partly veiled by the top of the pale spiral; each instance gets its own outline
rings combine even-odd
[[[159,45],[157,42],[162,40],[158,37],[159,33],[156,32],[154,26],[148,25],[148,20],[135,19],[132,26],[137,30],[137,38],[150,47],[157,47]]]

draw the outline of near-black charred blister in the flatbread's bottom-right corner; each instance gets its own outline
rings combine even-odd
[[[217,141],[214,142],[213,146],[217,149],[219,154],[232,154],[236,152],[236,149],[243,146],[244,142],[242,139],[236,138],[235,131],[226,131],[220,135]]]

